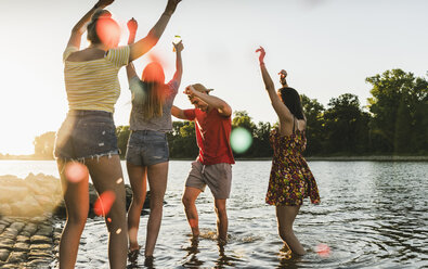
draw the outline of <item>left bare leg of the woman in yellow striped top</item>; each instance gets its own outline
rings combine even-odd
[[[75,268],[80,236],[88,218],[89,210],[89,174],[83,165],[77,164],[85,169],[85,177],[78,182],[70,182],[65,176],[65,166],[70,163],[57,161],[61,183],[67,209],[67,221],[61,235],[60,242],[60,268]]]

